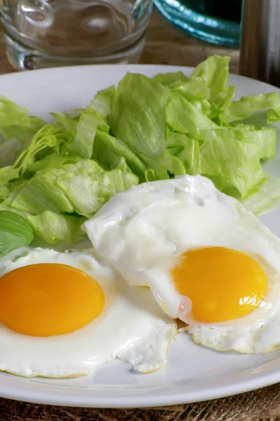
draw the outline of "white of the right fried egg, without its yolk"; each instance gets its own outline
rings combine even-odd
[[[85,222],[97,253],[130,285],[149,286],[169,316],[190,325],[193,340],[217,350],[265,353],[280,349],[280,240],[255,216],[200,175],[148,182],[114,196]],[[191,301],[174,288],[171,269],[187,250],[222,246],[257,260],[267,294],[254,312],[201,323]]]

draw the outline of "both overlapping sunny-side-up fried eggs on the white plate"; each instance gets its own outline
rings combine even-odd
[[[166,363],[176,322],[218,351],[280,349],[280,240],[201,176],[117,194],[92,249],[33,249],[1,269],[0,370],[73,377]],[[148,288],[147,288],[148,287]]]

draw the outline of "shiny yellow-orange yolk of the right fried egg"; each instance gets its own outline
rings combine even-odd
[[[223,247],[189,250],[172,269],[176,290],[192,301],[193,316],[206,323],[237,319],[253,312],[267,291],[258,262]]]

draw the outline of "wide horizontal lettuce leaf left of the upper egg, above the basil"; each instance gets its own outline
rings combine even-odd
[[[31,214],[51,210],[90,217],[118,192],[138,184],[127,166],[104,171],[91,159],[41,171],[27,180],[9,203],[11,208]]]

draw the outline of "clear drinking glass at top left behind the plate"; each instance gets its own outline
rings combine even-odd
[[[138,62],[153,0],[2,0],[17,69]]]

